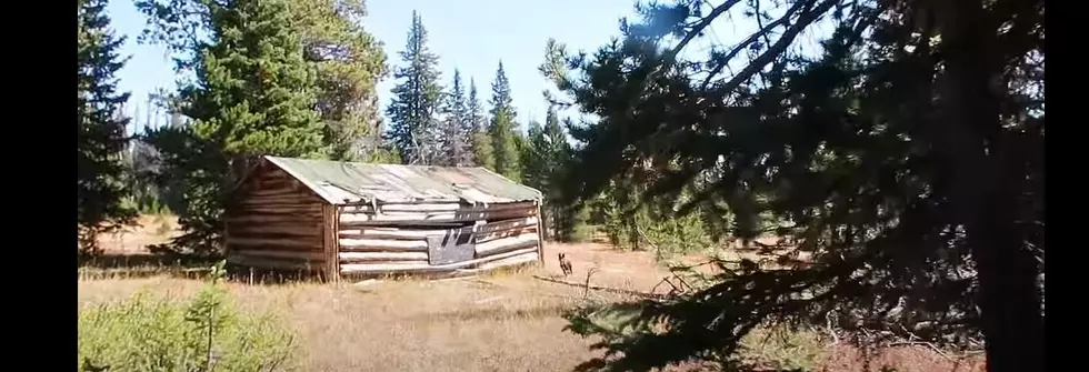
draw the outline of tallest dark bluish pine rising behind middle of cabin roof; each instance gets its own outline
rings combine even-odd
[[[389,137],[408,164],[429,164],[439,150],[437,131],[438,110],[442,99],[439,86],[439,57],[427,46],[427,30],[419,13],[412,11],[404,51],[400,53],[404,67],[397,68],[394,79],[403,79],[393,87],[393,98],[387,108],[392,122]]]

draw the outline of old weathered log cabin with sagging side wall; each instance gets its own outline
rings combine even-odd
[[[483,168],[262,157],[232,190],[226,254],[330,280],[541,263],[541,202]]]

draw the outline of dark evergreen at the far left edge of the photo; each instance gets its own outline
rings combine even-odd
[[[79,247],[94,251],[96,237],[131,222],[134,211],[122,207],[129,194],[122,152],[128,119],[120,107],[128,93],[117,91],[114,74],[123,38],[110,30],[106,0],[77,3],[77,232]]]

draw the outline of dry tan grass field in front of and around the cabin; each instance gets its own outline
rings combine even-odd
[[[141,253],[173,232],[167,218],[144,218],[144,227],[107,237],[111,252]],[[163,228],[167,227],[167,228]],[[120,241],[123,240],[123,247]],[[532,274],[560,270],[557,252],[567,252],[581,280],[590,268],[599,285],[649,291],[665,275],[650,254],[617,252],[601,244],[547,245],[543,269],[440,281],[389,280],[361,283],[247,284],[228,286],[241,309],[272,311],[299,335],[307,371],[570,371],[595,354],[592,340],[563,332],[560,314],[582,301],[582,290],[549,283]],[[133,259],[136,261],[136,259]],[[126,299],[138,291],[186,295],[198,280],[154,275],[83,278],[83,306]],[[596,299],[617,300],[607,293]],[[801,335],[792,348],[753,342],[756,356],[791,359],[816,371],[861,371],[859,353],[845,345]],[[978,371],[979,361],[955,363],[923,346],[880,353],[871,362],[897,371]]]

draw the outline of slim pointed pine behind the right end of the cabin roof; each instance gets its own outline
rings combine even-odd
[[[488,128],[496,157],[496,172],[513,181],[521,180],[518,159],[518,139],[514,128],[514,107],[510,97],[510,81],[499,62],[496,80],[491,83],[491,125]]]

